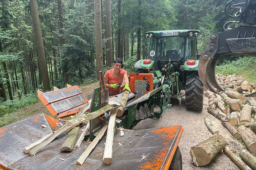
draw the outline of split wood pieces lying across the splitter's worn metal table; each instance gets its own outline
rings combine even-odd
[[[58,130],[50,133],[46,137],[40,139],[37,142],[34,142],[27,146],[23,151],[26,154],[35,155],[37,152],[39,152],[41,149],[43,149],[45,146],[47,146],[50,142],[53,141],[54,138],[58,137],[59,135],[69,132],[68,135],[66,135],[66,139],[60,148],[62,151],[68,151],[71,152],[73,148],[79,148],[80,144],[84,140],[84,137],[86,134],[88,134],[89,131],[89,120],[95,119],[98,116],[102,114],[106,114],[107,111],[110,111],[110,119],[106,122],[105,125],[100,129],[99,133],[97,134],[96,138],[94,138],[90,145],[85,149],[85,151],[82,153],[82,155],[77,160],[77,165],[82,165],[85,161],[85,159],[90,155],[91,151],[95,148],[97,143],[100,141],[100,139],[103,137],[105,132],[107,131],[107,137],[106,137],[106,143],[105,143],[105,152],[103,156],[103,162],[105,164],[111,164],[112,161],[112,148],[113,148],[113,138],[114,138],[114,132],[115,132],[115,124],[116,124],[116,116],[122,115],[124,113],[124,109],[128,100],[130,92],[126,91],[122,95],[122,98],[120,100],[120,103],[117,102],[109,102],[107,105],[103,106],[97,111],[94,111],[92,113],[78,113],[70,120],[66,121],[66,123],[60,127]],[[86,127],[84,128],[84,131],[82,132],[81,136],[79,137],[78,141],[76,142],[80,130],[80,126],[86,123]],[[74,146],[76,142],[76,145]],[[81,148],[82,149],[82,148]]]

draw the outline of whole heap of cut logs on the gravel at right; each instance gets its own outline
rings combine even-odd
[[[242,170],[256,170],[256,101],[253,97],[244,96],[255,92],[256,84],[236,74],[217,74],[216,79],[225,92],[213,93],[205,89],[204,95],[209,99],[207,110],[220,120],[234,138],[242,140],[248,150],[239,150],[240,157],[231,152],[226,147],[225,138],[205,117],[206,126],[214,135],[191,147],[193,162],[196,166],[207,165],[223,150]]]

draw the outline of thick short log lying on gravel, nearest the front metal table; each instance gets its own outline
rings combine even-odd
[[[227,142],[224,137],[214,134],[196,145],[191,147],[190,156],[196,166],[204,166],[210,163],[211,160],[219,153]]]

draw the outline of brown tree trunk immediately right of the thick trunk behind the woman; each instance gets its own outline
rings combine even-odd
[[[112,64],[112,39],[111,39],[111,0],[105,0],[106,6],[106,55],[107,55],[107,66]],[[112,37],[113,38],[113,37]]]

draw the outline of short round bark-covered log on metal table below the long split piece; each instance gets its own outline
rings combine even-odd
[[[78,138],[79,128],[80,128],[80,126],[78,125],[69,131],[60,150],[71,151],[73,149],[75,141]]]

